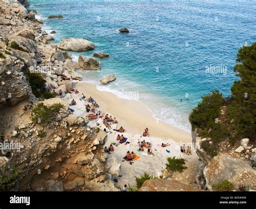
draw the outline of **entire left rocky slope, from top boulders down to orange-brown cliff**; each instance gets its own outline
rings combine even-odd
[[[6,116],[6,124],[1,121],[1,142],[19,148],[5,150],[0,167],[8,164],[18,169],[19,190],[117,191],[110,180],[113,169],[102,149],[107,137],[104,131],[87,127],[87,119],[73,115],[60,98],[43,101],[48,106],[63,105],[50,123],[30,120],[38,99],[24,72],[40,73],[46,88],[53,86],[56,93],[62,89],[63,94],[81,77],[68,53],[44,44],[49,38],[41,29],[42,21],[19,3],[28,5],[27,1],[0,0],[0,111]],[[62,80],[61,74],[69,79]],[[10,121],[19,121],[18,126]]]

